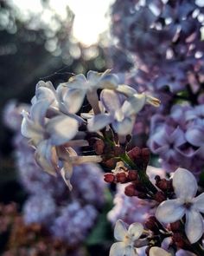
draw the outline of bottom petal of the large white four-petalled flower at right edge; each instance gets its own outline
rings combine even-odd
[[[193,209],[186,213],[185,232],[188,240],[194,244],[197,240],[201,239],[203,233],[203,220],[201,213],[194,211]]]

